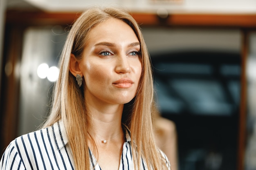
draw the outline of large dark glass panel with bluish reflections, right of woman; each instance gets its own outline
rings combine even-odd
[[[179,170],[237,169],[240,32],[143,31],[159,111],[177,129]]]

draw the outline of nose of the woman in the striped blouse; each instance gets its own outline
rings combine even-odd
[[[130,63],[126,55],[117,57],[117,65],[115,70],[117,73],[129,73],[131,71]]]

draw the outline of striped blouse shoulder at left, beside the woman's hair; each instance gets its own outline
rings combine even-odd
[[[9,166],[12,164],[18,166],[20,164],[20,166],[38,169],[41,164],[41,168],[46,166],[57,168],[59,165],[54,162],[64,158],[69,159],[71,155],[69,149],[64,147],[67,144],[67,137],[63,128],[64,126],[57,122],[47,128],[17,137],[5,150],[0,165],[5,166],[9,163]]]

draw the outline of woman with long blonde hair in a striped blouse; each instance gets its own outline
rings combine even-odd
[[[47,121],[11,142],[2,169],[170,169],[153,137],[150,59],[128,13],[85,11],[59,68]]]

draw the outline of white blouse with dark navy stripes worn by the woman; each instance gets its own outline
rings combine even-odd
[[[119,170],[133,170],[130,135],[126,129]],[[74,160],[63,122],[22,135],[6,148],[0,161],[0,170],[74,170]],[[101,170],[90,149],[91,170]],[[166,165],[170,163],[161,151]],[[141,170],[147,170],[141,159]]]

